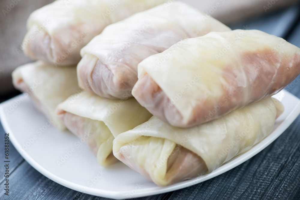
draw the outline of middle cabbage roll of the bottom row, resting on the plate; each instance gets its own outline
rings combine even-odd
[[[56,115],[87,145],[102,166],[117,161],[113,156],[113,139],[133,129],[152,116],[134,99],[110,100],[84,91],[70,96],[56,109]]]

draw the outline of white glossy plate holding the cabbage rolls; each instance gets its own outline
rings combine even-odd
[[[20,100],[21,97],[24,95],[0,104],[0,119],[4,130],[9,133],[10,141],[22,157],[43,175],[65,187],[113,199],[179,190],[227,172],[267,147],[300,113],[300,100],[286,91],[281,91],[276,97],[283,103],[285,111],[276,120],[272,133],[262,142],[208,175],[168,187],[158,187],[121,162],[110,168],[99,166],[85,144],[80,145],[77,142],[79,139],[68,131],[61,132],[55,127],[47,127],[47,119],[34,108],[30,98]],[[38,133],[40,128],[44,132]],[[72,148],[74,152],[70,151]],[[67,159],[58,166],[57,161],[61,161],[61,157]]]

